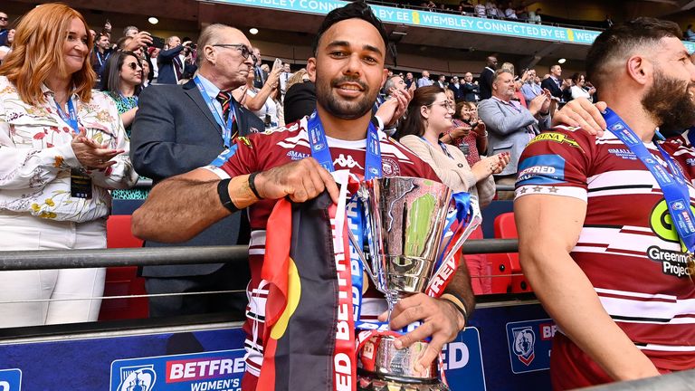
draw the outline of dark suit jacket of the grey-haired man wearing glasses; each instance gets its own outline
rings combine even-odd
[[[265,129],[262,120],[252,112],[243,109],[236,101],[233,105],[241,136]],[[136,171],[152,178],[155,184],[169,176],[207,166],[224,151],[222,129],[194,81],[182,86],[152,85],[140,94],[138,108],[130,138],[130,159]],[[194,239],[176,245],[236,244],[240,221],[241,213],[233,214]],[[167,244],[148,242],[147,245]],[[142,275],[205,275],[220,267],[222,263],[149,266],[143,268]]]

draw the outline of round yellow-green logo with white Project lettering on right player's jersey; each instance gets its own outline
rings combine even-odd
[[[673,204],[674,210],[685,211],[686,205],[682,202],[676,201]],[[695,208],[693,208],[692,205],[690,205],[690,209],[695,213]],[[665,199],[662,199],[652,209],[649,224],[653,233],[663,241],[681,243],[676,227],[673,225],[673,219]],[[652,245],[647,249],[647,258],[653,262],[661,262],[662,272],[674,277],[685,278],[695,272],[690,270],[688,255],[685,253],[682,244],[681,251],[666,250],[659,246]]]

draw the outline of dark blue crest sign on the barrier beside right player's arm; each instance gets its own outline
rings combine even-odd
[[[519,374],[548,369],[556,330],[552,319],[507,323],[511,371]]]

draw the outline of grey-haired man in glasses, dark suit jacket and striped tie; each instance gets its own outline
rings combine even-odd
[[[215,98],[220,91],[232,91],[245,84],[252,71],[251,43],[239,30],[224,24],[205,28],[198,42],[199,77],[183,86],[154,85],[139,98],[133,122],[130,157],[139,174],[151,177],[155,184],[169,176],[183,174],[211,163],[224,149],[224,112]],[[245,54],[245,55],[244,55]],[[200,85],[202,88],[199,88]],[[205,95],[203,95],[205,91]],[[208,102],[214,106],[214,113]],[[244,136],[262,131],[262,120],[231,100],[233,133]],[[223,124],[220,124],[223,122]],[[176,213],[175,210],[172,210]],[[246,216],[236,213],[197,235],[176,245],[223,245],[248,243],[248,229],[240,225]],[[166,246],[147,242],[146,246]],[[250,272],[246,262],[224,265],[195,264],[148,266],[142,269],[148,293],[243,290]],[[170,316],[233,310],[243,318],[244,294],[190,295],[150,298],[150,316]]]

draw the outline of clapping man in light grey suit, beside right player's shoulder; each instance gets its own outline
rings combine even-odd
[[[511,100],[514,95],[514,75],[499,70],[492,79],[492,97],[478,104],[478,116],[489,131],[488,154],[509,153],[509,165],[495,176],[498,185],[514,185],[521,152],[541,129],[550,127],[547,93],[529,101],[528,109],[518,100]],[[498,198],[513,199],[513,196],[513,191],[500,192]]]

